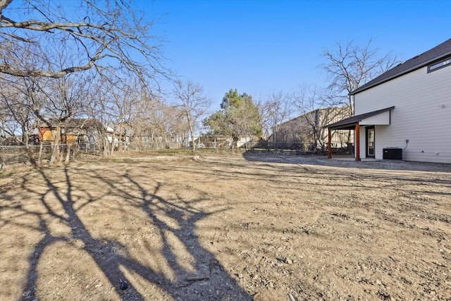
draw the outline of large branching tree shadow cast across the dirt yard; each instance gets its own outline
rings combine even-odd
[[[111,172],[111,171],[109,171]],[[39,242],[28,257],[29,269],[26,284],[23,288],[23,300],[37,300],[39,297],[39,261],[46,250],[55,242],[73,244],[82,242],[82,251],[89,255],[92,262],[109,281],[109,285],[123,300],[152,300],[145,285],[157,286],[166,298],[174,300],[250,300],[252,297],[238,285],[228,272],[221,266],[214,254],[202,246],[197,235],[196,223],[216,211],[199,211],[192,207],[193,201],[175,199],[170,201],[159,195],[162,183],[157,183],[152,191],[142,185],[142,179],[135,179],[128,173],[118,172],[114,177],[101,172],[84,173],[85,181],[95,180],[101,183],[101,196],[94,196],[75,183],[73,175],[77,173],[68,166],[63,168],[63,178],[54,171],[38,170],[44,189],[35,190],[32,183],[23,183],[28,192],[40,197],[45,210],[41,213],[23,209],[24,214],[33,214],[39,219],[37,229],[42,233]],[[118,185],[118,178],[121,185]],[[80,181],[80,178],[78,179]],[[62,184],[63,183],[63,184]],[[123,189],[128,187],[128,189]],[[39,191],[39,192],[38,192]],[[85,199],[80,201],[80,191]],[[145,264],[132,254],[130,245],[120,240],[105,237],[94,237],[89,231],[89,225],[80,216],[80,211],[86,206],[100,202],[106,196],[115,194],[124,202],[121,210],[139,209],[148,217],[152,226],[159,232],[162,247],[143,248],[140,258],[163,258],[168,273]],[[138,194],[138,195],[137,195]],[[49,204],[49,198],[56,199],[59,209]],[[35,200],[33,200],[35,201]],[[199,199],[197,199],[199,201]],[[83,204],[81,204],[83,203]],[[80,205],[81,204],[81,205]],[[62,209],[62,210],[61,210]],[[221,211],[218,209],[217,211]],[[49,221],[58,220],[70,229],[69,235],[55,235],[49,230]],[[130,230],[132,231],[132,230]],[[159,254],[155,254],[159,252]],[[80,264],[83,264],[80,262]],[[130,277],[130,274],[135,275]],[[142,281],[135,281],[140,278]],[[128,286],[124,288],[125,282]],[[95,296],[95,292],[93,293]],[[163,297],[164,297],[163,296]],[[102,298],[101,296],[98,296]],[[93,297],[96,299],[96,297]],[[39,297],[39,300],[41,298]]]

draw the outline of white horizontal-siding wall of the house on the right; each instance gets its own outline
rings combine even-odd
[[[355,94],[355,115],[395,106],[390,125],[375,126],[375,155],[385,147],[406,147],[402,159],[451,163],[451,66],[427,73],[427,67]],[[365,156],[365,128],[360,154]]]

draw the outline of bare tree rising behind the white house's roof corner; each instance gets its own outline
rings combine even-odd
[[[380,56],[379,49],[373,48],[371,42],[372,39],[364,47],[353,41],[337,42],[336,49],[326,49],[321,55],[325,63],[319,67],[326,71],[330,80],[329,97],[337,106],[349,106],[350,116],[354,115],[350,92],[399,63],[397,56],[390,53]]]

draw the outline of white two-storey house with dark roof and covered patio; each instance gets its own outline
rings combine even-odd
[[[355,130],[355,159],[451,163],[451,39],[350,93],[355,116],[326,125]],[[329,152],[330,157],[330,152]]]

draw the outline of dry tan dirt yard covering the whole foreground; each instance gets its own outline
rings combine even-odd
[[[451,300],[446,164],[78,161],[0,210],[0,300]]]

